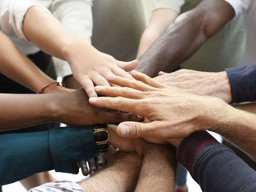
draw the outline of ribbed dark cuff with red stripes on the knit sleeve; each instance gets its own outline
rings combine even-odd
[[[197,181],[197,168],[207,154],[219,147],[225,147],[206,131],[192,133],[184,138],[177,149],[177,160]]]

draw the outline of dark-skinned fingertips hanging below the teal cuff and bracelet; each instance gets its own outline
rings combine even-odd
[[[105,157],[104,154],[99,154],[97,157],[91,158],[88,161],[89,169],[88,170],[86,161],[79,161],[78,162],[79,167],[81,167],[82,173],[84,176],[91,175],[99,170],[101,170],[105,166]]]

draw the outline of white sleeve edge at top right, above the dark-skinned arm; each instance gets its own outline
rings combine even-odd
[[[248,12],[254,0],[224,0],[235,10],[236,16]]]

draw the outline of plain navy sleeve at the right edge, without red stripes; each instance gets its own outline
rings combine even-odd
[[[232,103],[256,101],[256,63],[226,69]]]

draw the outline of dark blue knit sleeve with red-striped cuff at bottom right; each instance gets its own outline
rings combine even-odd
[[[255,192],[256,172],[207,132],[184,138],[177,159],[203,192]]]

